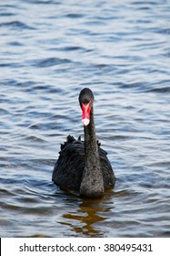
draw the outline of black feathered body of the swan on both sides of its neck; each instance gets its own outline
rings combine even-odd
[[[104,188],[108,190],[115,185],[115,175],[106,156],[105,150],[98,143],[100,164],[104,178]],[[61,145],[58,160],[53,172],[53,181],[61,188],[79,191],[85,169],[84,142],[68,136],[65,144]]]

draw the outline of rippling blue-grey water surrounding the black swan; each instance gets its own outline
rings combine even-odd
[[[51,181],[95,93],[114,191]],[[170,1],[0,3],[1,237],[170,237]]]

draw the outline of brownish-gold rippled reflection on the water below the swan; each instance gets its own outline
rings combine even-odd
[[[105,204],[108,202],[108,197],[102,199],[82,199],[79,208],[75,211],[69,211],[63,215],[65,223],[71,227],[75,233],[75,237],[104,237],[102,230],[95,228],[98,222],[107,219],[102,216],[105,212],[109,212],[111,207]],[[108,204],[110,206],[110,204]]]

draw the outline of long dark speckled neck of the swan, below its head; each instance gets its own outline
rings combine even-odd
[[[91,109],[90,123],[85,129],[85,170],[80,186],[80,194],[84,197],[102,197],[104,180],[95,136],[94,110]]]

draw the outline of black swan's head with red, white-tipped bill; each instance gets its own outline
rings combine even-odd
[[[90,112],[94,103],[94,94],[89,88],[80,91],[79,103],[82,109],[82,123],[87,126],[90,123]]]

